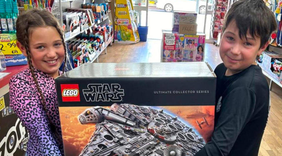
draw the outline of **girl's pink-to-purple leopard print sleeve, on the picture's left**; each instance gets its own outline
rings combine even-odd
[[[29,132],[27,155],[61,155],[34,81],[25,72],[9,83],[10,106]]]

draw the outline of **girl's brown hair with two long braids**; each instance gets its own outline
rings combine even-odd
[[[43,104],[44,111],[48,115],[46,102],[44,100],[44,96],[42,94],[42,90],[39,88],[38,80],[34,74],[34,67],[31,62],[31,54],[30,54],[30,47],[29,47],[29,37],[31,34],[32,29],[36,27],[46,27],[46,26],[52,26],[55,27],[58,31],[58,33],[61,36],[64,49],[65,49],[65,64],[63,66],[63,72],[65,71],[66,66],[66,44],[65,39],[63,35],[63,30],[58,23],[58,20],[48,11],[46,10],[38,10],[38,9],[32,9],[30,11],[25,11],[22,13],[16,22],[16,37],[17,40],[25,47],[26,54],[27,54],[27,60],[28,60],[28,66],[31,71],[31,76],[33,77],[33,80],[36,84],[36,88],[40,94],[41,102]]]

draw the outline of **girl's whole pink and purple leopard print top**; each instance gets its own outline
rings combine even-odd
[[[45,97],[48,116],[29,68],[13,76],[9,84],[10,106],[29,132],[27,155],[64,155],[55,80],[37,69],[34,73]]]

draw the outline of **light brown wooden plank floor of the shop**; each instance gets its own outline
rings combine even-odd
[[[136,44],[117,44],[107,48],[107,54],[99,56],[99,62],[160,62],[161,40],[147,40]],[[214,69],[222,61],[219,47],[205,45],[204,60]],[[268,78],[267,78],[268,79]],[[269,82],[269,79],[268,79]],[[273,84],[271,91],[271,109],[259,156],[282,155],[282,88]]]

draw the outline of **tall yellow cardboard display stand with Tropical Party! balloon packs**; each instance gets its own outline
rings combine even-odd
[[[131,0],[117,0],[115,8],[115,42],[131,44],[140,41]]]

